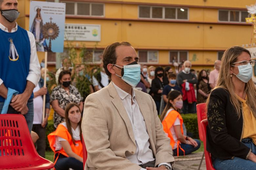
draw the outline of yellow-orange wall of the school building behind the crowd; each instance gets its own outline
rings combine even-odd
[[[187,50],[189,60],[196,69],[212,68],[217,59],[217,52],[233,45],[247,44],[251,37],[250,25],[218,24],[218,9],[208,7],[244,8],[245,5],[254,4],[253,0],[112,0],[120,3],[105,3],[105,16],[103,19],[66,18],[70,24],[99,24],[101,25],[100,42],[70,42],[65,47],[105,48],[113,42],[128,41],[136,49],[159,50],[159,64],[169,63],[169,50]],[[123,3],[124,2],[124,3]],[[152,22],[139,18],[138,4],[125,2],[151,3],[147,5],[180,7],[191,5],[189,19],[186,22]],[[20,16],[18,24],[29,29],[30,0],[18,0]],[[142,4],[143,5],[143,4]],[[197,6],[207,6],[198,8]],[[197,23],[198,22],[198,23]],[[215,24],[207,24],[207,23]],[[211,51],[209,51],[211,50]],[[44,53],[38,52],[39,61]],[[150,64],[149,64],[150,65]],[[205,66],[203,66],[205,65]]]

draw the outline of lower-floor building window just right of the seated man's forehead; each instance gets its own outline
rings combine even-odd
[[[158,51],[139,51],[139,62],[158,63]]]

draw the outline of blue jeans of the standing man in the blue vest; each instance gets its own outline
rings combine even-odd
[[[0,113],[3,109],[4,106],[4,102],[0,102]],[[29,127],[29,131],[31,132],[32,130],[32,126],[33,126],[33,119],[34,119],[34,104],[33,104],[33,99],[29,99],[27,106],[29,108],[29,111],[27,114],[24,115],[26,121],[27,121],[27,125]],[[14,110],[10,105],[7,111],[8,114],[20,114],[20,112]]]

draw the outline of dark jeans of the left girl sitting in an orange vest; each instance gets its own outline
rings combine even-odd
[[[57,154],[55,157],[57,157]],[[69,170],[69,168],[74,170],[83,170],[83,162],[78,161],[73,157],[65,157],[64,155],[60,154],[54,168],[56,168],[56,170]]]

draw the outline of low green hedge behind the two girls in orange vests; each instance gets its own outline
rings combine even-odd
[[[199,139],[198,134],[198,125],[197,125],[197,114],[181,114],[183,122],[187,128],[187,132],[193,133],[193,138]],[[51,150],[47,135],[55,130],[53,126],[53,121],[48,121],[48,125],[46,127],[46,150]]]

